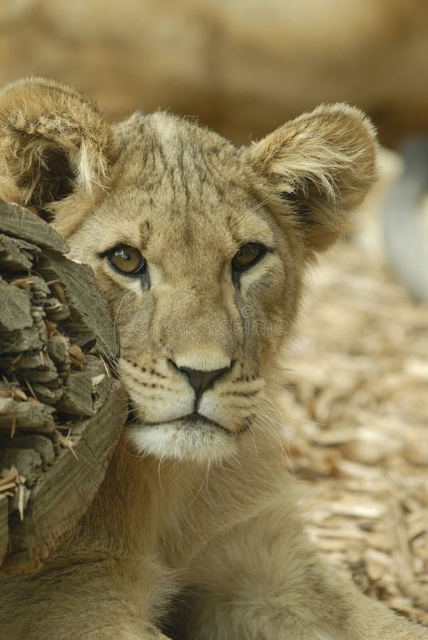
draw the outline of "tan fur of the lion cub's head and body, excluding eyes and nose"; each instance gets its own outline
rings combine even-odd
[[[137,415],[60,550],[38,574],[0,581],[1,636],[427,638],[311,547],[275,405],[304,267],[373,181],[364,115],[323,105],[236,149],[163,113],[109,128],[77,92],[26,80],[0,95],[0,144],[4,196],[55,212],[71,256],[92,265]],[[272,252],[238,284],[230,261],[256,241]],[[141,250],[149,279],[109,267],[119,242]],[[183,420],[195,398],[178,367],[227,368],[200,399],[211,422]]]

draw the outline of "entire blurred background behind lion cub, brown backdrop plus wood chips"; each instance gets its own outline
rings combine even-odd
[[[237,144],[320,102],[379,132],[360,232],[311,272],[284,415],[312,535],[428,626],[426,0],[1,0],[0,82],[45,75],[110,119],[159,107]]]

